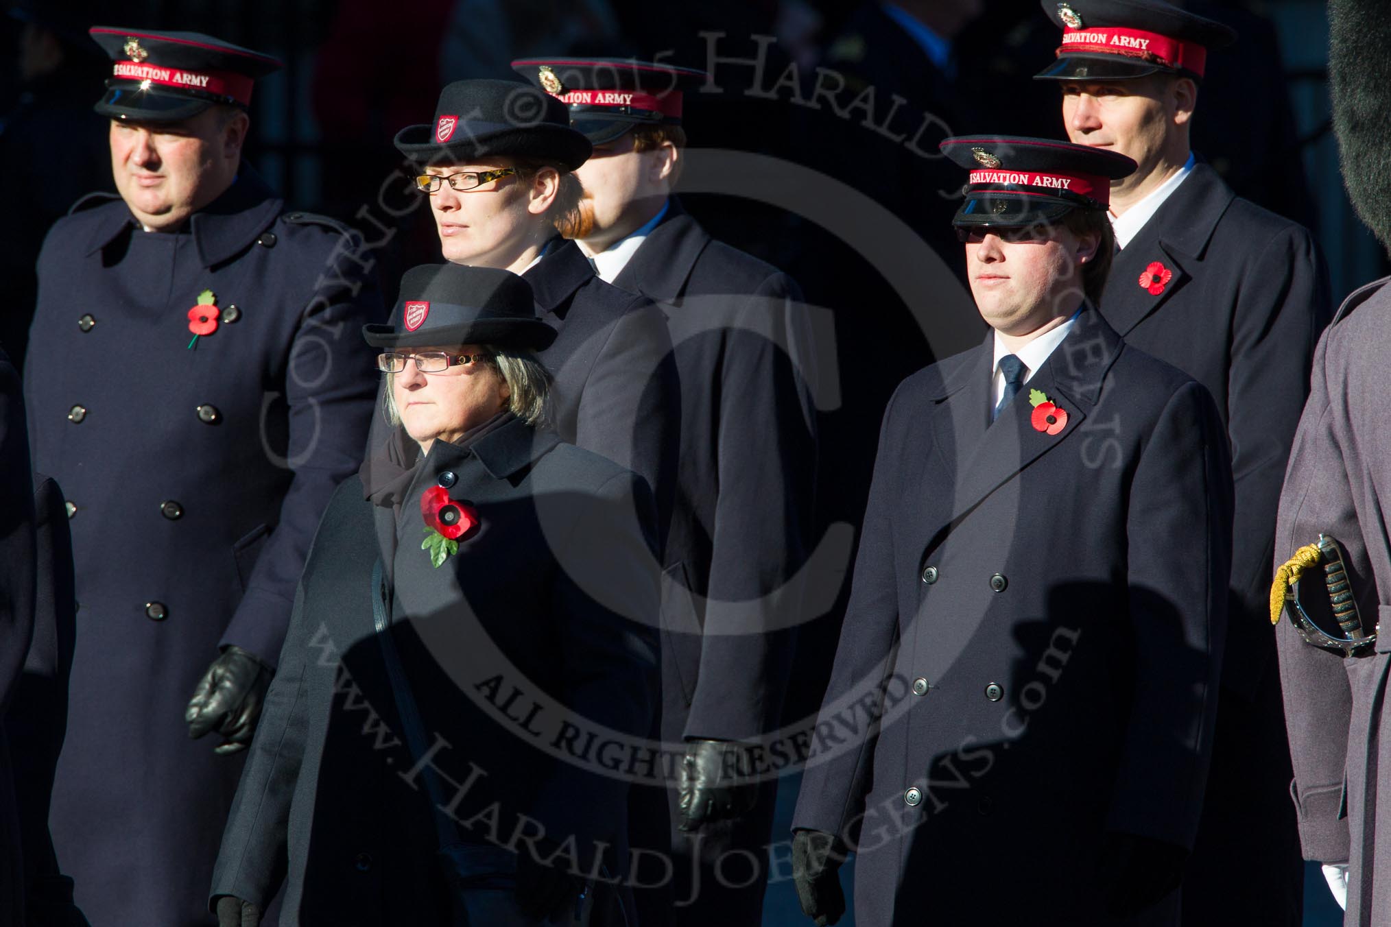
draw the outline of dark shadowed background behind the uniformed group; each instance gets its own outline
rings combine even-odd
[[[1237,46],[1210,60],[1195,150],[1239,195],[1313,229],[1337,299],[1387,274],[1384,253],[1342,189],[1330,129],[1324,4],[1184,6],[1241,33]],[[294,208],[356,225],[376,245],[388,293],[402,268],[440,260],[428,211],[406,186],[391,139],[433,118],[442,83],[512,78],[512,58],[548,54],[633,56],[711,71],[707,86],[686,101],[691,149],[814,168],[901,222],[885,221],[878,245],[851,247],[835,228],[808,218],[818,213],[811,189],[801,210],[759,202],[757,192],[684,197],[716,238],[790,271],[810,303],[832,311],[840,407],[822,416],[823,524],[858,524],[879,416],[897,382],[935,353],[979,336],[965,343],[933,338],[922,322],[963,304],[961,249],[949,225],[963,178],[938,156],[936,142],[971,131],[1064,136],[1057,89],[1029,79],[1057,46],[1036,0],[21,4],[0,19],[0,43],[11,50],[4,60],[13,63],[0,69],[0,185],[10,215],[0,227],[8,289],[0,300],[0,346],[13,356],[24,354],[33,261],[47,227],[83,193],[111,186],[106,124],[90,108],[110,68],[86,38],[95,24],[207,32],[284,60],[281,72],[257,83],[248,157]],[[928,282],[912,296],[875,270],[883,257],[876,252],[899,252],[903,236],[921,239],[943,263],[922,271]],[[907,304],[924,299],[929,304]],[[983,332],[974,317],[949,321]],[[808,616],[790,719],[819,703],[843,598],[844,591],[829,613]],[[787,817],[796,784],[785,782]],[[1306,895],[1308,924],[1341,923],[1314,871]],[[786,878],[769,888],[766,923],[807,923]]]

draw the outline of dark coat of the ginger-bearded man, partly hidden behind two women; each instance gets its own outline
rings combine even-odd
[[[613,284],[666,313],[680,385],[664,550],[662,739],[758,742],[782,721],[803,603],[793,580],[812,539],[817,443],[801,293],[775,267],[712,240],[676,199]],[[675,831],[679,792],[668,789],[672,848],[683,860],[673,901],[696,894],[676,909],[687,923],[759,923],[766,873],[726,878],[732,888],[711,867],[730,851],[762,852],[775,796],[769,777],[753,813],[704,827],[696,844]],[[684,860],[693,852],[707,869],[698,887]]]

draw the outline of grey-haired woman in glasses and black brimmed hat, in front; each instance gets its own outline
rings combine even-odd
[[[651,495],[545,429],[520,277],[416,267],[392,322],[363,331],[395,427],[319,527],[213,906],[259,923],[284,880],[285,924],[622,923],[627,784],[594,763],[655,712]]]

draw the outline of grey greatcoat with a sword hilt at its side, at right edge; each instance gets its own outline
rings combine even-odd
[[[1385,359],[1391,352],[1387,279],[1352,293],[1314,354],[1312,391],[1299,418],[1280,495],[1274,566],[1319,539],[1345,550],[1363,625],[1391,630],[1391,428]],[[1313,596],[1324,596],[1313,578]],[[1308,593],[1305,593],[1308,596]],[[1358,657],[1310,646],[1283,617],[1274,628],[1285,724],[1294,760],[1294,805],[1305,859],[1348,863],[1349,927],[1391,916],[1391,716],[1385,712],[1391,638]]]

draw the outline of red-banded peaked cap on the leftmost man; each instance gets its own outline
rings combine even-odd
[[[93,26],[89,33],[114,61],[106,96],[93,107],[113,120],[175,122],[214,103],[246,108],[256,81],[281,68],[268,54],[202,32]]]

